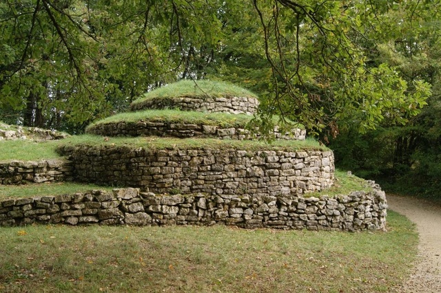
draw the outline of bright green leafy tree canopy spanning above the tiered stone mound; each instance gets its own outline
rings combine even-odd
[[[405,80],[371,54],[403,32],[411,34],[402,40],[413,50],[412,40],[422,34],[417,16],[436,19],[434,6],[416,0],[7,1],[0,4],[1,109],[29,126],[78,132],[145,91],[209,77],[261,96],[264,133],[275,114],[331,135],[345,122],[359,131],[384,120],[402,124],[420,111],[429,87],[422,76]]]

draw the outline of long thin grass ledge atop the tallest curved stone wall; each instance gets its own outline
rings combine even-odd
[[[316,140],[276,140],[268,143],[259,140],[219,140],[216,138],[104,138],[99,135],[76,135],[66,138],[59,143],[60,149],[70,149],[75,146],[87,146],[94,149],[121,147],[147,150],[157,149],[238,149],[244,151],[327,151],[326,146]],[[59,150],[60,150],[59,149]]]

